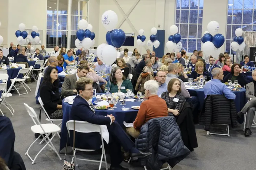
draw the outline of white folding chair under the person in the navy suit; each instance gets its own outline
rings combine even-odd
[[[68,129],[68,135],[70,137],[69,130],[74,130],[74,120],[69,120],[66,123],[66,126],[67,126],[67,129]],[[101,150],[102,150],[101,161],[96,161],[96,160],[91,160],[91,159],[80,159],[80,158],[79,158],[79,160],[90,161],[90,162],[99,162],[99,170],[101,169],[101,164],[103,162],[103,163],[105,163],[106,170],[108,170],[108,164],[107,164],[107,160],[106,160],[106,154],[105,154],[105,148],[104,148],[101,126],[96,125],[96,124],[88,123],[87,121],[76,121],[75,122],[75,131],[80,132],[80,133],[99,132],[99,134],[101,135],[101,143],[102,143],[102,146],[101,146]],[[75,150],[74,151],[74,158],[75,158],[76,166],[78,166],[78,162],[76,161],[76,159],[78,159],[78,158],[76,158],[76,150],[84,151],[84,152],[95,151],[95,150],[80,149],[80,148],[76,148],[76,147],[74,148],[74,150]],[[104,156],[105,161],[102,161],[103,156]]]

